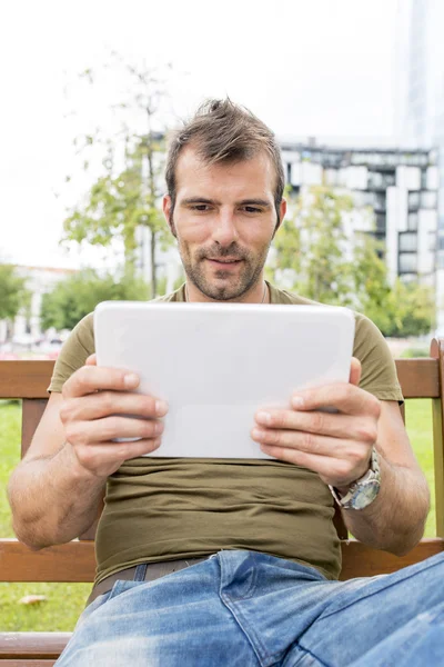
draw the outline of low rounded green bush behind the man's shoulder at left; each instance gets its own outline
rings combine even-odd
[[[87,269],[59,282],[51,292],[43,295],[42,329],[72,329],[101,301],[144,301],[149,298],[149,287],[131,270],[119,278],[111,273],[100,276]]]

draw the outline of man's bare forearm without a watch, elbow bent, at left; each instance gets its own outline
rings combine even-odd
[[[75,465],[70,445],[24,459],[8,485],[16,535],[32,549],[79,537],[97,518],[104,484]]]

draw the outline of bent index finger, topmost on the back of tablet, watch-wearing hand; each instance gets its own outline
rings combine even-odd
[[[294,410],[334,408],[344,415],[370,415],[376,419],[381,412],[377,398],[349,382],[297,391],[291,399],[291,407]]]

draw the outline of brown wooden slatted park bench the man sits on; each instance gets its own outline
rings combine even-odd
[[[436,537],[423,539],[410,554],[396,557],[347,540],[339,514],[335,524],[342,539],[342,579],[389,574],[444,550],[444,340],[432,341],[430,358],[397,359],[396,366],[406,399],[432,399]],[[0,361],[0,399],[22,399],[22,456],[43,414],[52,367],[53,361]],[[92,581],[94,532],[92,527],[79,540],[41,551],[31,551],[16,539],[0,539],[0,581]],[[0,667],[53,665],[70,636],[70,633],[0,633]]]

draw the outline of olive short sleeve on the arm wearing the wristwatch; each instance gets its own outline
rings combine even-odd
[[[381,400],[404,400],[396,366],[389,345],[379,328],[365,316],[356,313],[353,356],[362,365],[360,387]]]

